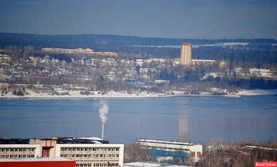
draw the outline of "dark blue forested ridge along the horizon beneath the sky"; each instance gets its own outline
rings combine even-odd
[[[277,44],[275,39],[170,39],[155,37],[131,37],[123,35],[35,35],[19,33],[0,33],[0,46],[35,46],[55,48],[87,47],[98,49],[100,45],[181,45],[182,42],[198,44],[217,44],[222,42],[249,42],[252,44]]]

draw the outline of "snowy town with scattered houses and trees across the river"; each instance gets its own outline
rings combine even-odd
[[[217,47],[249,50],[249,44],[238,42]],[[234,53],[226,60],[193,59],[193,48],[193,44],[183,42],[177,58],[149,58],[146,52],[134,56],[89,48],[37,51],[33,46],[2,47],[1,98],[35,97],[35,94],[111,96],[111,91],[116,92],[114,96],[123,97],[201,96],[203,92],[225,96],[240,89],[276,89],[275,64],[264,68],[251,66],[247,60],[242,63],[235,60]]]

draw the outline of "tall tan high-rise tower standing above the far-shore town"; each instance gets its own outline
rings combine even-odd
[[[181,44],[181,60],[180,64],[184,66],[189,66],[191,64],[191,54],[193,46],[189,43]]]

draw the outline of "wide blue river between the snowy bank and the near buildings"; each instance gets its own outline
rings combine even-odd
[[[0,100],[0,134],[6,138],[101,137],[98,100]],[[211,139],[266,141],[276,137],[277,96],[242,98],[107,99],[105,139]]]

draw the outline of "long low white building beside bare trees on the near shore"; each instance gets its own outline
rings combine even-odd
[[[166,152],[185,152],[190,157],[199,158],[202,155],[203,146],[197,143],[182,143],[171,141],[136,139],[136,143],[148,150],[163,150]]]

